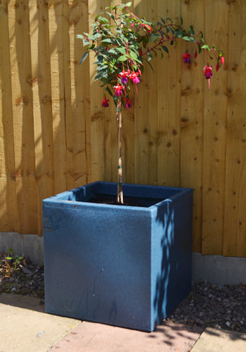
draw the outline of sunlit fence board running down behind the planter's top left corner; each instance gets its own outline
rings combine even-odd
[[[44,0],[30,1],[29,6],[38,233],[41,234],[41,201],[51,196],[54,189],[48,6]]]

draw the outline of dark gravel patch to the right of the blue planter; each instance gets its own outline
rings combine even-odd
[[[167,320],[246,332],[246,285],[223,287],[193,282],[192,290]]]

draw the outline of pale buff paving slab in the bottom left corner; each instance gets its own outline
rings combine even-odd
[[[0,352],[46,352],[79,324],[44,313],[39,298],[0,294]]]

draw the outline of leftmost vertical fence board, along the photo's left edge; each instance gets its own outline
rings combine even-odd
[[[18,231],[8,1],[0,4],[0,228]]]

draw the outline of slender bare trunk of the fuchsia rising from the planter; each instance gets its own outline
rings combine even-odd
[[[118,122],[118,183],[117,203],[123,204],[123,183],[122,183],[122,101],[118,98],[116,117]]]

